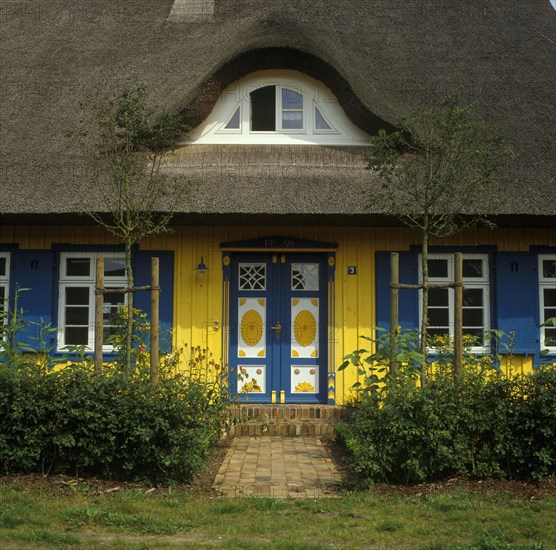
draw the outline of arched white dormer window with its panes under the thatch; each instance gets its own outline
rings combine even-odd
[[[322,82],[297,71],[257,71],[226,88],[184,143],[369,145]]]

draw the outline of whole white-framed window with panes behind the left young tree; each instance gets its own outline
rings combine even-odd
[[[95,326],[95,286],[96,259],[104,257],[104,287],[125,288],[124,255],[119,253],[79,253],[60,254],[60,297],[58,307],[58,349],[67,346],[85,346],[93,349]],[[112,314],[118,306],[126,302],[123,293],[104,295],[104,336],[103,349],[110,351],[106,344],[112,333]]]

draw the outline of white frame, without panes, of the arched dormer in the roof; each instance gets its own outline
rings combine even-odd
[[[251,130],[251,93],[267,86],[276,87],[276,130]],[[303,129],[282,127],[282,90],[293,90],[303,97]],[[226,128],[237,108],[238,128]],[[315,107],[330,129],[316,128]],[[322,82],[298,71],[256,71],[228,86],[211,114],[181,142],[186,144],[234,145],[357,145],[371,147],[369,135],[347,117],[332,91]]]

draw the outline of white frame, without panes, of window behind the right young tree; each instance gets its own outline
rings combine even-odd
[[[484,331],[490,330],[490,273],[489,273],[489,256],[483,253],[466,253],[463,254],[463,260],[481,260],[483,262],[483,270],[481,277],[464,277],[464,289],[479,288],[483,290],[483,324]],[[454,253],[429,253],[429,260],[445,260],[448,265],[446,277],[431,277],[429,275],[429,284],[448,284],[454,282]],[[422,255],[419,254],[419,282],[423,282],[421,273]],[[450,336],[454,335],[454,292],[452,289],[448,290],[448,333]],[[419,325],[423,317],[423,292],[419,291]],[[488,339],[485,339],[482,346],[473,346],[471,353],[483,354],[488,351]],[[431,350],[434,351],[434,350]]]

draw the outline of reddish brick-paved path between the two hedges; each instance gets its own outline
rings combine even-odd
[[[319,437],[235,437],[214,480],[223,496],[333,496],[341,477]]]

